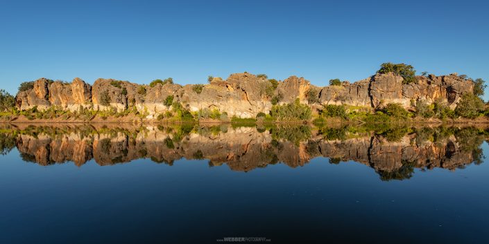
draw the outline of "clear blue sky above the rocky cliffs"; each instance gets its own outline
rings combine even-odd
[[[382,62],[489,79],[489,1],[0,0],[0,83],[207,75],[354,82]],[[486,96],[486,100],[487,100]]]

